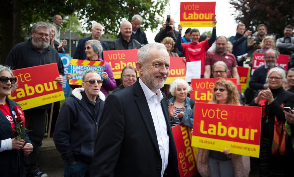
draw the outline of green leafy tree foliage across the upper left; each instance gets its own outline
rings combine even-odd
[[[90,30],[93,20],[100,22],[104,25],[105,34],[110,35],[118,34],[120,23],[123,20],[130,20],[134,14],[139,14],[144,18],[141,28],[153,30],[160,23],[164,6],[168,4],[168,0],[2,0],[0,1],[1,41],[3,44],[3,39],[6,38],[4,41],[7,46],[4,49],[2,45],[1,63],[4,63],[9,50],[15,45],[12,42],[9,43],[7,38],[15,35],[17,29],[6,28],[6,25],[12,26],[12,9],[15,2],[19,2],[21,6],[20,17],[15,18],[20,19],[22,36],[24,32],[30,34],[34,22],[52,23],[52,17],[55,14],[60,14],[62,17],[77,14],[79,20],[88,24],[87,30]],[[62,26],[65,30],[67,30],[66,25]]]

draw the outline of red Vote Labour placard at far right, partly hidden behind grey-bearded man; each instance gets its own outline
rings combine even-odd
[[[289,55],[278,54],[278,59],[276,63],[277,65],[284,68],[285,71],[288,71],[288,61],[289,61]],[[251,75],[253,74],[256,68],[262,65],[264,65],[264,53],[254,53],[253,60],[252,60]]]

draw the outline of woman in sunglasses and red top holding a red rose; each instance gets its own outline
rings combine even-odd
[[[19,106],[7,96],[16,87],[17,79],[12,71],[0,65],[0,174],[1,176],[24,177],[25,163],[24,155],[28,156],[33,151],[32,142],[25,133],[26,140],[17,140],[16,129],[16,110]]]

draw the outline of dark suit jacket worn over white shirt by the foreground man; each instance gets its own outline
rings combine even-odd
[[[164,94],[163,94],[164,95]],[[168,119],[167,100],[161,100],[169,135],[166,176],[178,175],[177,152]],[[139,81],[110,94],[98,126],[91,176],[160,177],[162,160],[153,119]]]

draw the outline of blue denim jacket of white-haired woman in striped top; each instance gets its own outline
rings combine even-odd
[[[175,101],[175,96],[173,96],[172,98],[168,99],[168,105],[170,103],[173,103]],[[183,119],[179,119],[181,124],[184,124],[188,127],[193,127],[193,121],[194,121],[194,106],[193,109],[191,109],[191,105],[190,105],[190,98],[186,97],[185,99],[185,111],[184,111],[184,116]]]

